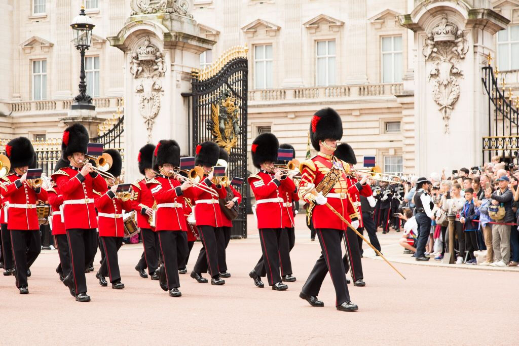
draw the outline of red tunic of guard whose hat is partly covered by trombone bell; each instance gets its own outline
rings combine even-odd
[[[122,218],[123,210],[132,210],[131,202],[115,198],[115,193],[108,190],[103,195],[95,195],[95,207],[98,210],[99,236],[124,237],[125,225]]]

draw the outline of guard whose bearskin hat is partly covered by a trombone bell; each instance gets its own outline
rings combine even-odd
[[[118,150],[106,149],[104,153],[112,156],[113,164],[107,173],[117,178],[121,174],[122,159]],[[125,227],[122,222],[122,211],[131,211],[131,201],[121,200],[116,196],[117,190],[116,180],[105,178],[108,190],[101,196],[95,197],[95,207],[98,210],[99,239],[100,246],[104,250],[104,259],[101,262],[101,268],[95,274],[99,279],[101,286],[107,286],[105,276],[108,275],[112,288],[122,289],[125,285],[121,282],[119,273],[119,262],[117,259],[117,251],[122,245],[122,237],[125,235]]]

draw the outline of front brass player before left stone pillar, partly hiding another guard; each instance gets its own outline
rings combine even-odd
[[[161,140],[153,154],[153,170],[158,175],[146,183],[157,202],[155,227],[163,266],[156,270],[160,287],[171,297],[180,297],[179,258],[187,255],[187,226],[184,196],[192,197],[192,182],[177,180],[175,168],[180,165],[180,147],[173,140]]]

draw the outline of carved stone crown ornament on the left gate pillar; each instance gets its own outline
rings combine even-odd
[[[139,112],[144,118],[148,131],[148,141],[152,140],[152,130],[155,118],[160,110],[160,95],[164,93],[161,78],[166,72],[164,56],[160,49],[153,45],[149,37],[132,53],[130,73],[138,79],[135,94],[139,96]]]

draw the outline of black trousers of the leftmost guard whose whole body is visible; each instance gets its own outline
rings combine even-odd
[[[27,286],[27,270],[42,251],[39,230],[11,230],[12,257],[15,260],[16,287]]]

